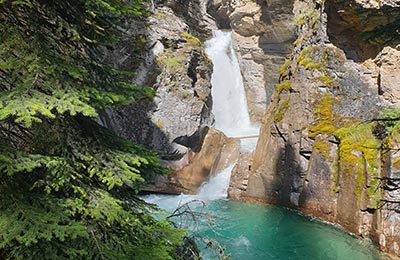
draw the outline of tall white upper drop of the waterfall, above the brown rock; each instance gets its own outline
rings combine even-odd
[[[243,79],[232,45],[230,31],[213,31],[205,43],[206,53],[214,65],[211,77],[215,128],[229,137],[258,135],[258,126],[250,123]],[[257,142],[257,139],[245,140]]]

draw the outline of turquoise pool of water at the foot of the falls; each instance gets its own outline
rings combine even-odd
[[[211,185],[215,185],[213,181]],[[206,190],[208,187],[204,187]],[[150,195],[144,198],[172,211],[179,202],[201,199],[203,195]],[[293,210],[217,197],[206,200],[206,212],[210,216],[197,221],[195,227],[191,221],[179,222],[191,223],[190,227],[199,234],[217,240],[226,247],[225,253],[230,254],[232,260],[388,259],[369,241],[356,239],[333,225]],[[192,205],[192,209],[204,212],[200,203]],[[200,249],[203,259],[217,259],[214,251],[206,250],[203,244]]]

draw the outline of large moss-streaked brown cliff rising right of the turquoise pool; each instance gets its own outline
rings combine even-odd
[[[298,37],[231,197],[297,208],[400,256],[398,4],[295,1]]]

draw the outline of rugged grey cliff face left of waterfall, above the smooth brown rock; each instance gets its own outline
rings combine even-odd
[[[101,120],[121,136],[165,151],[164,158],[174,159],[174,153],[185,154],[190,148],[174,140],[213,123],[212,64],[201,41],[194,36],[201,32],[188,26],[187,21],[194,19],[191,15],[199,15],[192,10],[196,3],[186,6],[180,1],[156,2],[153,14],[145,21],[131,22],[128,36],[106,56],[110,63],[136,71],[133,81],[154,89],[155,98],[147,104],[132,103],[105,111]],[[182,16],[171,9],[185,6],[192,11]],[[206,18],[203,20],[201,27],[205,30],[206,25],[211,25]]]

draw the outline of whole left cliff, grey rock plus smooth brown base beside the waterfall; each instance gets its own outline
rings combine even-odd
[[[214,122],[212,64],[202,42],[215,23],[206,10],[201,0],[152,1],[149,16],[127,20],[126,36],[104,51],[107,62],[135,71],[132,81],[156,92],[152,102],[105,110],[99,119],[119,135],[158,150],[174,170],[149,180],[145,190],[195,192],[230,146],[223,134],[208,131]]]

